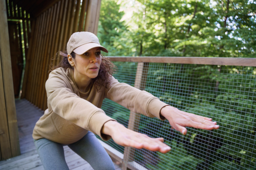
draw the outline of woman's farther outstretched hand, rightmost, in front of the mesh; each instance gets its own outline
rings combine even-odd
[[[211,118],[198,116],[192,113],[180,111],[172,106],[165,106],[160,111],[161,116],[164,116],[175,130],[186,135],[186,127],[195,127],[199,129],[212,130],[218,129],[217,122],[212,122]]]

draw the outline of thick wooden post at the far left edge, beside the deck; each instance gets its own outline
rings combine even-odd
[[[5,0],[0,0],[0,23],[0,150],[1,159],[9,159],[20,155],[20,145]]]

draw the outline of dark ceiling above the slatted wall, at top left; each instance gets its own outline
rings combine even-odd
[[[6,0],[7,1],[7,0]],[[47,10],[49,7],[57,3],[59,0],[9,0],[9,4],[21,7],[30,17],[37,17],[39,14]]]

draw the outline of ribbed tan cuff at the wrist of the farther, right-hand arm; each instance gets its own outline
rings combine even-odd
[[[160,101],[158,98],[152,99],[148,104],[148,114],[150,117],[157,117],[161,120],[166,120],[165,117],[160,116],[160,111],[164,106],[169,106],[168,104]]]

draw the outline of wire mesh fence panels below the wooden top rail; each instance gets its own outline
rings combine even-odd
[[[134,85],[136,62],[114,62],[119,82]],[[256,169],[256,67],[149,63],[145,91],[182,111],[211,117],[220,128],[188,128],[184,136],[168,121],[141,115],[138,131],[163,137],[172,147],[163,154],[135,150],[131,159],[151,170]],[[128,126],[128,109],[105,99],[102,109]],[[109,145],[124,152],[124,147]],[[137,168],[139,169],[139,168]]]

